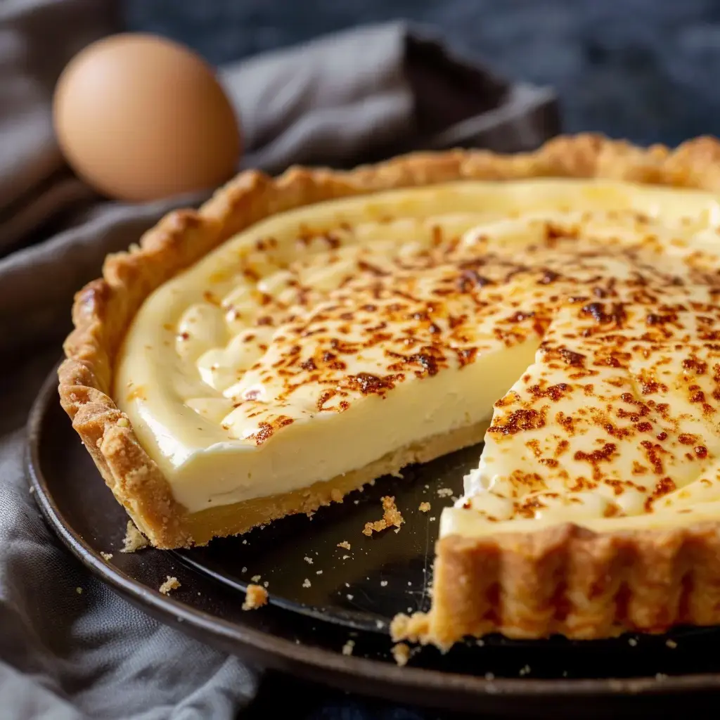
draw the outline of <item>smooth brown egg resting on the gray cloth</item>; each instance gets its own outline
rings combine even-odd
[[[154,35],[112,35],[81,50],[55,87],[53,120],[68,163],[116,199],[214,188],[240,157],[235,112],[212,68]]]

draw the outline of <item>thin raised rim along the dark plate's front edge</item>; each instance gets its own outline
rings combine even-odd
[[[254,650],[269,660],[264,662],[264,667],[268,669],[287,672],[289,663],[294,672],[300,671],[298,674],[306,677],[310,676],[310,670],[321,670],[325,672],[324,677],[328,684],[336,686],[338,683],[332,683],[333,678],[344,677],[348,680],[362,678],[371,683],[369,690],[381,690],[384,686],[393,685],[400,686],[408,692],[422,688],[443,694],[456,691],[465,696],[511,696],[515,699],[557,696],[566,699],[588,696],[657,696],[690,690],[720,690],[720,672],[668,675],[663,680],[650,677],[488,679],[481,675],[464,675],[412,666],[399,667],[392,662],[379,662],[354,655],[343,655],[320,647],[298,645],[260,629],[225,621],[212,613],[161,595],[153,588],[118,570],[117,567],[104,562],[99,552],[84,541],[71,523],[64,518],[48,487],[40,463],[40,445],[43,424],[50,406],[53,402],[60,402],[57,391],[57,371],[60,362],[61,360],[55,364],[42,383],[27,418],[24,467],[35,503],[55,535],[74,557],[112,590],[148,611],[163,624],[190,634],[211,647],[218,645],[217,642],[212,642],[213,638],[222,641],[222,649],[225,652],[232,653],[232,648],[235,647],[235,654],[246,657],[248,651]],[[190,631],[191,629],[194,632]],[[312,677],[317,678],[315,672],[312,672]],[[382,692],[371,694],[387,695]]]

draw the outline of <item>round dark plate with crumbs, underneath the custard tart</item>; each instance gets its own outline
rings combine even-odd
[[[469,449],[402,480],[378,480],[312,519],[286,518],[243,539],[135,554],[117,552],[127,518],[60,409],[54,374],[30,415],[27,465],[48,522],[92,572],[161,621],[267,667],[400,702],[507,716],[576,717],[578,703],[585,717],[664,711],[685,703],[688,690],[720,693],[719,629],[603,642],[490,637],[445,655],[425,648],[397,667],[387,623],[427,607],[438,518],[451,503],[443,489],[459,490],[477,455]],[[405,524],[368,538],[361,529],[382,515],[386,494]],[[418,511],[423,501],[430,512]],[[101,552],[114,552],[112,560]],[[158,587],[168,575],[181,588],[166,597]],[[272,604],[243,612],[242,590],[256,575],[269,583]],[[348,640],[351,655],[341,652]]]

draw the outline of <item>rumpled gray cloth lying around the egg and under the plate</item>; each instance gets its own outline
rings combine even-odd
[[[107,202],[63,165],[50,123],[53,84],[73,53],[117,27],[112,1],[0,0],[4,719],[229,718],[257,685],[258,671],[161,626],[86,575],[45,526],[24,477],[24,420],[60,354],[73,292],[98,274],[106,253],[205,195]],[[499,145],[538,144],[546,126],[533,118],[552,104],[527,88],[518,104],[518,89],[463,66],[402,23],[248,60],[222,77],[243,125],[244,163],[273,172],[295,161],[347,166],[437,145],[452,127],[456,142],[473,113],[477,132]]]

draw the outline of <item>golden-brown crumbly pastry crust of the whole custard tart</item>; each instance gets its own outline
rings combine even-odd
[[[600,135],[550,140],[533,153],[486,150],[412,153],[352,171],[290,168],[271,179],[246,171],[199,210],[171,212],[140,245],[108,256],[102,278],[76,294],[75,329],[59,369],[60,401],[107,485],[158,548],[203,544],[284,516],[309,512],[403,464],[480,441],[485,428],[433,438],[369,467],[288,495],[211,513],[188,513],[174,500],[110,392],[125,331],[146,297],[181,270],[258,220],[323,200],[443,182],[555,176],[605,178],[720,192],[720,143],[696,138],[670,150],[636,148]],[[239,519],[241,518],[241,519]],[[433,608],[398,616],[394,638],[449,647],[464,635],[553,633],[598,638],[626,630],[663,631],[720,623],[720,523],[650,531],[595,533],[566,523],[528,534],[436,546]]]

